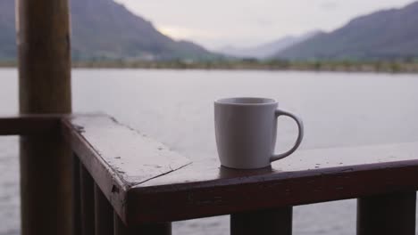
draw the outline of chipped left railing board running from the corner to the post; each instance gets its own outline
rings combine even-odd
[[[122,221],[128,190],[191,163],[161,142],[106,116],[67,118],[63,134]]]

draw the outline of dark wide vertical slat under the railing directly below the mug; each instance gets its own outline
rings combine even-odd
[[[293,208],[230,215],[231,235],[291,235]]]

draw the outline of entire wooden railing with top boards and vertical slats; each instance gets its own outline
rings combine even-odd
[[[291,234],[293,206],[340,199],[358,199],[359,235],[415,232],[417,142],[301,150],[238,171],[107,116],[0,118],[0,134],[61,134],[71,146],[74,234],[171,234],[173,221],[213,215],[230,215],[235,235]]]

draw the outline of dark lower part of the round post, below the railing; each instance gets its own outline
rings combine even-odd
[[[46,134],[21,136],[20,153],[21,234],[68,234],[71,151],[60,134]]]

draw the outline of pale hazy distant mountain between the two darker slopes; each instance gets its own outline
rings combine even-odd
[[[285,36],[273,42],[257,45],[255,47],[238,48],[234,46],[225,46],[218,50],[219,53],[236,56],[236,57],[251,57],[257,59],[265,59],[275,53],[288,48],[291,45],[301,43],[313,36],[322,33],[321,31],[312,31],[301,36]]]

